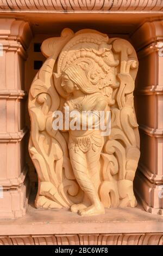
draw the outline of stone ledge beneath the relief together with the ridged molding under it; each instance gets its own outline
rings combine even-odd
[[[0,220],[0,245],[162,245],[162,217],[140,205],[79,216],[68,209],[35,209],[34,197],[26,216]]]

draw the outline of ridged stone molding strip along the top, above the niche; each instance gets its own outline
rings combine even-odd
[[[22,1],[22,0],[0,0],[2,10],[30,10],[30,11],[161,11],[161,0],[50,0],[50,1]]]

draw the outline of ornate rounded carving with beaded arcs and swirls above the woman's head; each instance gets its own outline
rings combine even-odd
[[[118,86],[115,67],[119,61],[115,60],[108,41],[108,35],[91,30],[86,33],[80,31],[62,49],[57,63],[57,76],[63,72],[69,73],[69,77],[78,74],[76,80],[79,80],[85,92],[99,90],[109,97],[110,87]]]

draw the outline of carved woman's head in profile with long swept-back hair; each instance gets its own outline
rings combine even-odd
[[[91,84],[85,70],[78,64],[72,64],[62,72],[61,86],[67,93],[72,93],[74,90],[80,90],[86,94],[99,91],[97,86]]]

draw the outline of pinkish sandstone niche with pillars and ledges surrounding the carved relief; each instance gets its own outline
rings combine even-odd
[[[136,207],[110,207],[102,216],[79,216],[65,208],[42,210],[35,207],[38,171],[28,150],[32,130],[28,97],[33,79],[52,56],[43,41],[61,37],[65,28],[75,35],[83,29],[107,35],[115,61],[122,63],[122,73],[128,70],[122,67],[128,61],[126,51],[137,60],[133,95],[140,159],[133,155],[129,165],[137,167],[133,176]],[[121,56],[117,55],[120,46],[114,46],[117,38],[122,39]],[[126,50],[126,42],[135,55]],[[54,51],[59,44],[62,41]],[[163,244],[162,67],[162,0],[0,0],[1,245]],[[56,70],[54,66],[53,71]],[[134,77],[134,66],[130,74]],[[120,109],[121,104],[123,102],[118,105]],[[134,148],[134,144],[131,147]],[[139,160],[138,165],[134,156],[137,162]],[[123,159],[118,162],[118,168],[121,163]]]

